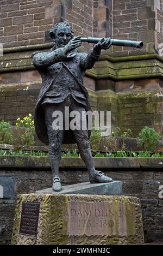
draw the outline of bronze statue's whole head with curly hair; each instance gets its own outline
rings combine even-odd
[[[67,22],[60,22],[53,26],[49,32],[55,41],[55,47],[64,47],[73,38],[73,29]]]

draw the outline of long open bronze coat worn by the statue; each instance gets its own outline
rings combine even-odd
[[[91,110],[89,94],[86,88],[83,86],[83,79],[86,69],[91,69],[93,64],[97,61],[100,53],[93,50],[88,53],[72,53],[69,57],[62,55],[61,48],[54,50],[53,48],[49,52],[34,52],[32,55],[33,64],[39,70],[42,77],[42,87],[37,98],[35,107],[35,131],[38,138],[48,145],[47,128],[45,124],[45,116],[42,110],[42,100],[46,97],[46,93],[50,90],[51,86],[55,85],[55,79],[61,76],[62,72],[66,69],[73,77],[74,81],[80,87],[80,92],[83,92],[86,98],[85,110]],[[68,81],[67,81],[68,83]],[[56,90],[58,92],[58,85]],[[63,88],[64,90],[64,88]],[[75,93],[75,91],[74,91]],[[63,93],[62,93],[63,94]],[[58,103],[61,101],[61,95],[59,95]],[[89,130],[89,135],[91,131]],[[74,136],[72,136],[71,130],[64,131],[63,144],[76,143]]]

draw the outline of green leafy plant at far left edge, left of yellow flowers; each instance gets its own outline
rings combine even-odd
[[[0,122],[0,144],[12,144],[14,137],[11,133],[10,122]]]

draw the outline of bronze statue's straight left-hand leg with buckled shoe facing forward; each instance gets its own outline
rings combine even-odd
[[[58,105],[46,104],[44,107],[45,123],[48,132],[49,140],[49,160],[53,175],[53,191],[61,190],[61,183],[59,177],[59,163],[61,159],[61,144],[64,136],[64,130],[55,130],[52,126],[54,118],[52,114],[55,110],[59,110]]]

